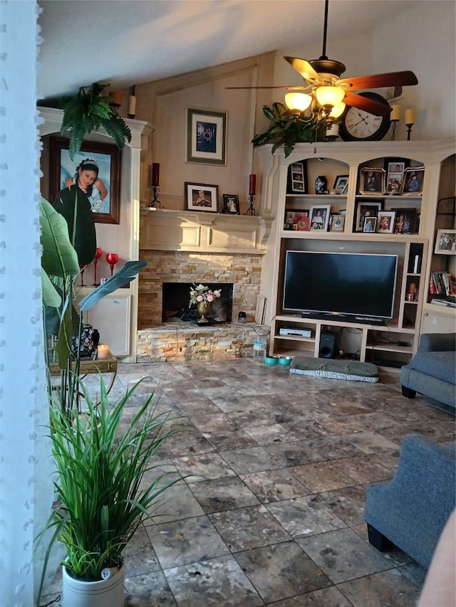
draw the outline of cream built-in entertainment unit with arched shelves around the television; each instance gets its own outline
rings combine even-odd
[[[317,143],[315,151],[314,145],[296,144],[287,158],[282,149],[271,154],[270,145],[257,148],[261,157],[260,211],[264,216],[274,217],[261,272],[261,295],[268,301],[266,323],[271,324],[269,354],[318,357],[322,334],[332,333],[338,336],[336,350],[342,349],[361,361],[390,366],[410,361],[418,349],[423,305],[428,305],[430,248],[434,246],[441,166],[454,154],[454,149],[454,139],[325,142]],[[385,179],[393,163],[404,169],[404,184],[410,179],[411,171],[418,174],[420,191],[404,188],[393,194],[391,180]],[[295,169],[296,174],[302,172],[305,176],[303,191],[296,191],[299,182],[291,183]],[[365,181],[368,171],[376,172],[380,183],[385,179],[380,191],[369,191]],[[328,194],[316,193],[315,180],[321,175],[326,176]],[[454,179],[452,183],[454,188]],[[321,214],[326,216],[323,228],[317,223],[313,225],[312,218],[318,208],[323,209]],[[366,210],[370,213],[366,214]],[[389,216],[388,228],[364,231],[361,216],[369,214],[377,217],[378,225],[382,218]],[[335,216],[339,216],[337,226],[331,225]],[[408,221],[409,218],[413,221]],[[289,250],[397,255],[392,320],[378,325],[353,317],[303,318],[297,313],[287,313],[283,297]],[[318,269],[310,271],[318,272]],[[306,275],[301,280],[305,289]],[[333,297],[337,298],[337,292]],[[324,310],[324,307],[318,309]],[[281,334],[280,329],[284,328],[308,332],[304,336]]]

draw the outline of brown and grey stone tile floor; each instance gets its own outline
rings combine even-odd
[[[128,546],[126,606],[416,604],[425,570],[368,543],[365,487],[393,477],[406,434],[455,440],[445,407],[403,398],[396,372],[367,384],[249,358],[119,364],[110,398],[142,377],[132,406],[155,391],[172,411],[183,433],[159,458],[185,479]]]

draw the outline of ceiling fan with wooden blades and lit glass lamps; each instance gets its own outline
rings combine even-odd
[[[306,91],[306,93],[289,93],[285,103],[290,110],[303,112],[309,106],[318,114],[318,118],[327,120],[343,113],[346,105],[357,107],[375,116],[389,115],[391,107],[357,93],[356,90],[417,85],[418,79],[409,70],[389,72],[354,78],[341,78],[346,66],[340,61],[326,56],[326,34],[328,30],[328,3],[325,0],[325,17],[323,28],[323,51],[318,59],[299,59],[284,57],[299,72],[307,83],[306,86],[271,86],[271,87],[227,87],[227,88],[284,88],[286,90]],[[293,95],[293,96],[291,96]]]

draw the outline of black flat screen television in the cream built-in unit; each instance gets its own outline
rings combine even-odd
[[[393,318],[398,255],[286,251],[284,312]]]

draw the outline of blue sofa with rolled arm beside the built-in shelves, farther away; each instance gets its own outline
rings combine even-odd
[[[418,352],[400,369],[402,394],[417,392],[456,408],[456,333],[423,333]]]

